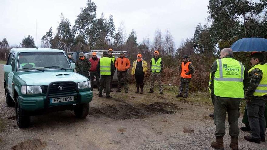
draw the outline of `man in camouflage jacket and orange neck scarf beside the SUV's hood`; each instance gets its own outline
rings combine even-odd
[[[86,76],[88,79],[90,79],[89,69],[91,68],[91,63],[88,59],[86,59],[83,52],[79,53],[79,58],[76,60],[75,65],[77,73]]]

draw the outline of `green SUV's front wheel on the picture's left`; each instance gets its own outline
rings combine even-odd
[[[31,123],[31,116],[27,115],[25,111],[19,108],[19,96],[16,97],[16,119],[19,128],[27,128]]]

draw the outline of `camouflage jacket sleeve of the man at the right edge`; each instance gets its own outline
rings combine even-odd
[[[260,64],[264,64],[265,62],[261,62]],[[256,88],[258,87],[259,83],[262,79],[262,71],[258,68],[253,69],[249,74],[250,77],[250,84],[248,86],[247,91],[245,92],[245,99],[251,100],[251,99],[262,99],[266,100],[267,95],[265,96],[253,96],[253,93],[255,92]]]

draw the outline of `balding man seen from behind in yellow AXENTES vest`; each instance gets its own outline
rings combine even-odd
[[[214,115],[216,125],[216,142],[211,143],[215,149],[223,149],[225,135],[225,117],[228,113],[230,148],[238,149],[238,108],[244,98],[244,87],[249,85],[249,76],[244,65],[234,59],[230,48],[221,50],[220,58],[211,67],[211,92],[214,92]]]

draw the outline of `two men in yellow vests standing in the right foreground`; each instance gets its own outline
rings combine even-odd
[[[244,118],[248,118],[250,126],[250,135],[244,136],[244,139],[255,143],[265,141],[267,64],[260,52],[252,52],[250,58],[252,68],[247,70],[242,62],[235,60],[232,49],[224,48],[221,50],[220,59],[217,59],[211,67],[209,89],[214,105],[216,125],[216,141],[211,142],[212,148],[224,148],[223,137],[227,112],[231,136],[229,146],[234,150],[238,149],[238,117],[241,98],[246,100],[247,113],[244,114]]]

